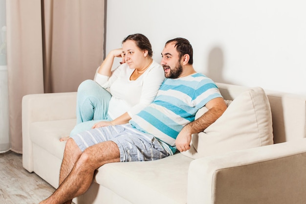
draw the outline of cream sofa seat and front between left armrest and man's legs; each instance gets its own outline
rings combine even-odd
[[[76,119],[51,120],[33,122],[29,127],[33,133],[30,135],[33,145],[33,170],[55,188],[59,185],[66,144],[61,142],[60,138],[68,136],[75,123]]]

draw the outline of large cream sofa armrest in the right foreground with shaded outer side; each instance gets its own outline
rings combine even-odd
[[[306,139],[195,159],[188,204],[306,203]]]

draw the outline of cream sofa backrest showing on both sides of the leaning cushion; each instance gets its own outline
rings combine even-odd
[[[226,100],[234,100],[248,87],[216,83]],[[267,91],[273,121],[274,143],[306,137],[306,96]]]

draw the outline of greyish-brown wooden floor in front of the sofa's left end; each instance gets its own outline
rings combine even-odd
[[[22,155],[0,154],[0,204],[38,204],[55,189],[22,167]]]

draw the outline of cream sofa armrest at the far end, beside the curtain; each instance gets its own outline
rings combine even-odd
[[[76,118],[77,92],[29,94],[22,98],[22,164],[33,172],[30,124]]]

